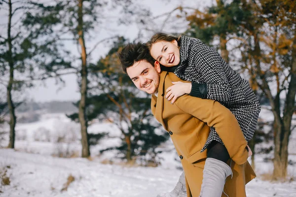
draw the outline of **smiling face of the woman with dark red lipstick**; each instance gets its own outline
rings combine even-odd
[[[177,66],[180,63],[180,49],[176,40],[155,42],[151,45],[150,54],[163,66]]]

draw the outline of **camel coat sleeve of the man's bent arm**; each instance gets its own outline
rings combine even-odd
[[[180,97],[175,104],[185,113],[205,122],[209,127],[214,127],[236,164],[244,164],[247,161],[247,141],[235,116],[226,107],[215,100],[189,95]]]

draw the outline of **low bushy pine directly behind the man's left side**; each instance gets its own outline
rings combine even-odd
[[[168,135],[155,132],[159,124],[150,111],[150,96],[140,92],[121,69],[117,51],[124,44],[125,39],[119,37],[107,56],[89,67],[93,85],[89,87],[87,118],[108,120],[117,126],[122,143],[111,149],[119,150],[128,162],[149,156],[148,162],[157,163],[156,148]]]

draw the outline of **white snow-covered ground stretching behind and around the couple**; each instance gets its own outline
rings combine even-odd
[[[267,116],[262,110],[260,115]],[[266,117],[265,116],[265,117]],[[15,150],[0,149],[0,175],[9,177],[10,184],[0,185],[1,197],[156,197],[171,191],[182,171],[175,161],[172,143],[170,150],[160,155],[164,160],[158,167],[128,166],[114,163],[113,152],[99,154],[99,150],[120,142],[120,132],[107,123],[94,123],[90,132],[110,133],[111,138],[101,140],[91,147],[92,158],[82,159],[79,126],[63,114],[45,114],[40,121],[18,124]],[[57,143],[59,139],[63,139]],[[248,197],[296,197],[296,134],[292,133],[289,146],[288,166],[290,181],[284,183],[265,181],[272,173],[272,163],[265,158],[272,154],[255,157],[258,177],[247,186]],[[7,145],[2,141],[1,145]],[[56,157],[65,153],[73,158]],[[67,185],[67,180],[69,184]]]

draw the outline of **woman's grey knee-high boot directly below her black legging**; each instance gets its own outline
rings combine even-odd
[[[224,162],[207,158],[203,170],[200,197],[221,197],[225,179],[232,174],[229,165]]]

